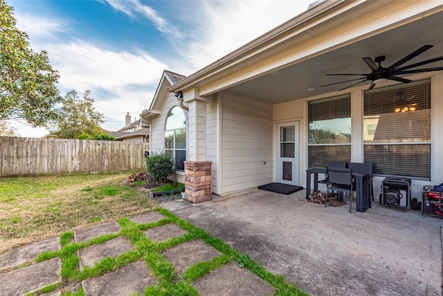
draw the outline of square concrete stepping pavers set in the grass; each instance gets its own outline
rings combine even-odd
[[[158,212],[136,216],[129,220],[135,223],[152,223],[166,218]],[[80,229],[74,232],[75,243],[90,241],[106,234],[118,234],[120,225],[116,222]],[[152,241],[168,241],[186,234],[186,230],[176,224],[166,224],[147,229],[143,234]],[[42,288],[60,284],[62,261],[53,258],[35,263],[37,255],[42,252],[60,250],[60,238],[33,243],[12,250],[0,256],[0,295],[25,295]],[[106,257],[116,257],[134,250],[134,245],[124,236],[117,236],[104,243],[97,243],[77,251],[78,268],[92,267]],[[168,250],[163,256],[172,263],[179,277],[196,263],[210,261],[221,253],[199,239],[181,243]],[[97,277],[91,277],[81,283],[59,285],[50,293],[39,295],[60,296],[64,292],[78,292],[80,286],[84,295],[134,295],[147,286],[159,284],[143,258],[128,263],[121,268]],[[201,277],[192,286],[200,295],[273,295],[274,288],[254,275],[246,268],[239,268],[237,263],[228,263],[221,268]]]

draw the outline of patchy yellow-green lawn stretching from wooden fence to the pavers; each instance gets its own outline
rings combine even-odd
[[[129,173],[0,178],[0,254],[155,204],[122,181]]]

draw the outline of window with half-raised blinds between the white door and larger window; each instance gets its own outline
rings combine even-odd
[[[308,103],[308,166],[350,162],[351,99],[349,95]]]

